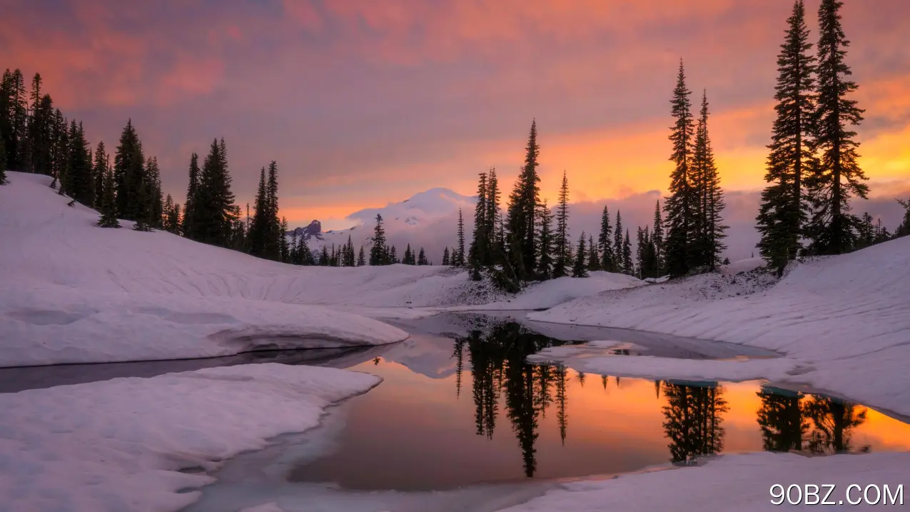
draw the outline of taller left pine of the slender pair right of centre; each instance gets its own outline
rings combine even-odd
[[[673,150],[670,159],[675,164],[670,175],[670,197],[663,208],[667,213],[667,238],[665,260],[667,271],[672,276],[684,275],[689,271],[692,255],[693,221],[697,213],[697,198],[692,187],[693,115],[689,95],[685,86],[685,71],[680,60],[676,88],[673,89],[672,117],[676,119],[670,134]]]

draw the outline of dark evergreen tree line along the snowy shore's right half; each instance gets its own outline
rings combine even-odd
[[[856,161],[859,143],[850,128],[862,120],[863,110],[847,98],[857,86],[848,79],[850,68],[844,63],[849,42],[840,23],[842,4],[822,1],[815,57],[807,53],[812,44],[804,2],[796,0],[778,56],[777,118],[765,176],[770,185],[762,193],[756,219],[762,236],[760,253],[777,271],[799,255],[839,254],[910,234],[910,200],[898,200],[906,212],[894,234],[868,213],[850,213],[850,199],[866,198],[868,185]],[[467,267],[475,280],[489,273],[511,292],[527,282],[584,277],[591,270],[642,278],[713,271],[723,262],[726,249],[725,203],[708,129],[707,91],[697,118],[691,95],[681,60],[671,99],[670,195],[662,209],[658,201],[652,226],[637,228],[634,258],[621,213],[616,212],[614,227],[606,206],[597,240],[582,232],[577,243],[571,242],[566,174],[563,171],[553,211],[547,200],[540,199],[540,147],[537,125],[532,122],[524,164],[506,211],[500,211],[495,169],[481,172],[470,250],[465,258],[460,234],[461,249],[453,250],[458,258],[451,264]],[[461,233],[461,220],[459,226]]]

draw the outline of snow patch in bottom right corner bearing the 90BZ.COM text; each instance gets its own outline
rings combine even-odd
[[[705,466],[652,471],[620,476],[611,480],[565,484],[543,497],[502,509],[501,512],[601,512],[602,510],[711,510],[753,512],[774,510],[770,489],[774,484],[789,486],[822,484],[836,486],[830,501],[843,505],[827,510],[853,510],[847,505],[847,488],[887,485],[892,494],[905,484],[910,470],[907,454],[843,455],[805,457],[795,454],[756,453],[722,456]],[[824,497],[822,489],[819,497]],[[796,498],[795,490],[791,494]],[[875,491],[869,493],[875,499]],[[862,491],[849,499],[862,498]],[[890,501],[889,501],[890,503]],[[784,507],[798,508],[788,505]],[[876,508],[880,508],[879,505]],[[863,508],[863,507],[859,507]]]

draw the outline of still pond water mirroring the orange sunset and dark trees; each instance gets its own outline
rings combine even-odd
[[[721,453],[910,448],[910,425],[833,397],[525,362],[564,343],[574,342],[488,322],[390,346],[349,367],[384,381],[339,407],[343,426],[329,453],[288,478],[416,491],[617,474]]]

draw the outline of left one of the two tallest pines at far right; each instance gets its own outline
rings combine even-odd
[[[802,243],[806,224],[804,178],[814,168],[812,124],[814,116],[815,58],[809,29],[805,26],[803,0],[794,2],[793,14],[777,56],[777,85],[774,111],[757,229],[762,235],[759,252],[779,273],[793,260]]]

